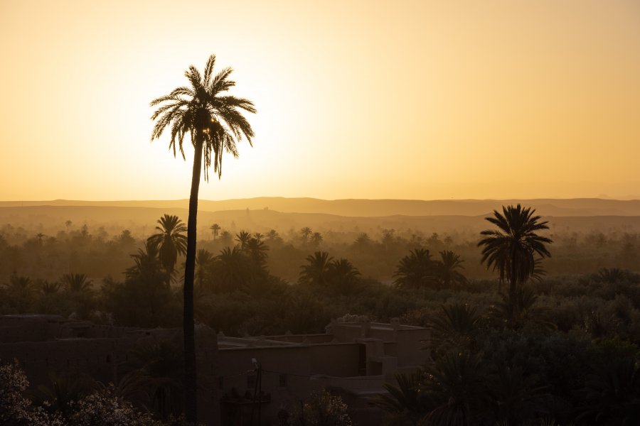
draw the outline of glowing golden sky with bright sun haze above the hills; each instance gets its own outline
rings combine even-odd
[[[0,200],[188,197],[149,101],[215,53],[201,198],[640,198],[640,2],[0,0]]]

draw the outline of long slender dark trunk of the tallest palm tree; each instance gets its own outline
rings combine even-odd
[[[194,134],[195,133],[195,134]],[[196,140],[189,196],[187,222],[187,252],[184,265],[184,411],[188,422],[196,423],[198,407],[196,401],[196,332],[193,321],[193,278],[196,272],[196,218],[198,216],[198,190],[202,170],[202,144],[197,132],[191,133]]]

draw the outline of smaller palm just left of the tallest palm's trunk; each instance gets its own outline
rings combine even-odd
[[[174,273],[178,255],[186,252],[187,238],[184,233],[186,226],[177,216],[165,214],[158,219],[160,226],[156,226],[157,234],[149,236],[146,241],[158,251],[160,263],[171,276]]]

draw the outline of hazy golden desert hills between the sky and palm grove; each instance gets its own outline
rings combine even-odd
[[[368,232],[374,238],[383,229],[422,231],[430,234],[455,233],[477,235],[486,229],[484,217],[492,209],[518,200],[314,200],[286,198],[255,198],[247,200],[202,200],[198,214],[198,232],[206,238],[208,227],[218,223],[232,232],[247,229],[266,232],[276,229],[281,234],[299,231],[303,226],[314,230]],[[555,231],[619,230],[640,232],[640,201],[618,200],[523,200],[549,221]],[[130,229],[137,236],[153,231],[162,214],[176,214],[186,222],[186,200],[133,202],[0,202],[0,229],[6,224],[55,235],[65,229],[87,224],[95,230],[104,226],[114,233]],[[139,204],[139,205],[138,205]],[[235,207],[235,209],[233,209]],[[217,209],[217,210],[215,210]],[[277,210],[280,209],[280,210]],[[316,209],[316,211],[314,211]],[[341,214],[342,213],[342,214]],[[351,213],[351,214],[347,214]],[[359,213],[360,215],[358,215]],[[375,216],[375,213],[380,215]],[[388,213],[388,214],[385,214]]]

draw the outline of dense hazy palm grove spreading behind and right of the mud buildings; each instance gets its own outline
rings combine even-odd
[[[512,222],[521,216],[533,222],[530,234],[500,226],[500,217],[512,213]],[[533,256],[555,256],[557,243],[544,236],[544,222],[516,207],[496,212],[494,219],[496,229],[478,236],[473,246],[475,260],[484,251],[484,266],[495,269],[498,280],[466,275],[471,268],[459,249],[470,243],[447,246],[385,231],[378,241],[361,235],[352,244],[334,245],[308,228],[285,241],[274,230],[231,234],[213,224],[196,255],[196,321],[238,336],[323,332],[332,318],[345,315],[400,317],[402,323],[430,327],[433,363],[399,376],[388,385],[388,396],[372,402],[388,413],[389,425],[638,424],[639,275],[615,267],[547,275],[542,256]],[[127,231],[109,238],[83,226],[18,245],[10,243],[16,231],[5,227],[0,251],[12,263],[3,263],[0,312],[178,327],[184,225],[168,215],[157,225],[142,244]],[[533,257],[509,263],[510,251],[503,249],[513,241]],[[528,248],[531,241],[547,251]],[[396,259],[393,283],[358,268],[377,257]],[[48,263],[50,258],[58,261]],[[93,278],[109,262],[122,268],[120,278]],[[8,264],[14,271],[7,271]],[[295,280],[279,278],[274,270],[289,271],[282,275]],[[26,271],[38,273],[31,278]],[[163,374],[180,377],[179,371]],[[176,414],[179,398],[177,404]],[[146,406],[156,419],[173,414]]]

